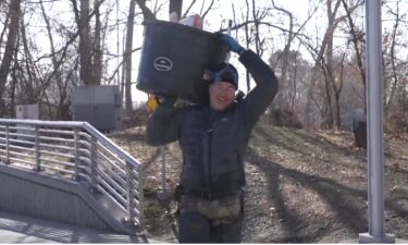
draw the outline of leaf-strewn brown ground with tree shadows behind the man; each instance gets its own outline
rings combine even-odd
[[[144,143],[144,130],[112,135],[139,159],[146,171],[148,231],[176,242],[174,216],[157,201],[161,157]],[[385,231],[408,238],[407,142],[385,144]],[[180,171],[180,149],[168,146],[168,184]],[[368,232],[366,151],[353,146],[348,132],[307,133],[258,125],[247,150],[245,243],[338,243]]]

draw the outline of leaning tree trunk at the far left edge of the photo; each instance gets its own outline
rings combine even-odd
[[[13,51],[15,49],[16,37],[18,34],[21,0],[11,0],[10,2],[10,25],[9,36],[4,48],[4,54],[0,65],[0,98],[4,98],[5,83],[10,73],[11,61],[13,60]],[[0,115],[4,113],[4,101],[0,100]]]

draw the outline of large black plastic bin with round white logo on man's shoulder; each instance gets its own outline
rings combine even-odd
[[[217,36],[177,23],[146,23],[137,88],[207,103],[208,83],[202,81],[203,71],[220,65],[226,56]]]

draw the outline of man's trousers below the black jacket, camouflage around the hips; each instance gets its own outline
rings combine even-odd
[[[243,193],[220,199],[182,196],[181,243],[240,243]]]

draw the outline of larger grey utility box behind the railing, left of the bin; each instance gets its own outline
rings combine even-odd
[[[100,131],[122,127],[122,96],[119,86],[74,87],[71,105],[74,121],[86,121]]]

